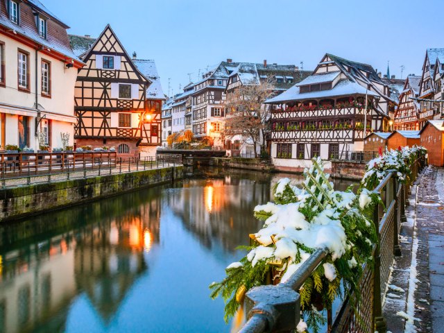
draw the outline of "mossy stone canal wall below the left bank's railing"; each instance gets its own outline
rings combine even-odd
[[[0,223],[182,179],[183,167],[91,176],[0,189]]]

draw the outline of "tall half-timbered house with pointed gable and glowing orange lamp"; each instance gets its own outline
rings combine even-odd
[[[76,83],[76,145],[115,146],[127,156],[139,155],[139,146],[159,145],[162,105],[148,99],[151,80],[109,25],[80,58],[86,65]]]

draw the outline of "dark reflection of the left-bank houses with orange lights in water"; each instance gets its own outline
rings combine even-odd
[[[83,292],[110,320],[160,237],[160,198],[128,196],[0,228],[0,332],[62,332]]]

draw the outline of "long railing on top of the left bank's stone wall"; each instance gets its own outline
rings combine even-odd
[[[17,157],[19,154],[5,155],[15,155]],[[117,157],[116,153],[46,153],[34,155],[37,158],[23,160],[23,157],[19,157],[19,160],[1,162],[0,186],[2,188],[17,187],[42,182],[176,167],[182,164],[181,160],[175,160],[171,157],[156,160],[154,156]],[[39,159],[38,157],[46,158]]]

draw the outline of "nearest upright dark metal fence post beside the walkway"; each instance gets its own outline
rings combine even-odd
[[[373,266],[373,323],[375,331],[379,333],[387,332],[387,323],[382,316],[382,302],[381,302],[381,255],[379,253],[379,241],[381,240],[379,234],[379,205],[375,206],[373,211],[373,223],[378,234],[378,242],[375,249],[375,264]]]

